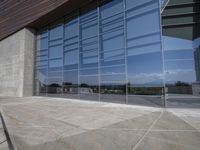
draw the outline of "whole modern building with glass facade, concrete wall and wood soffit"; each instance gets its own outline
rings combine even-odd
[[[200,103],[199,46],[200,0],[3,0],[0,95]]]

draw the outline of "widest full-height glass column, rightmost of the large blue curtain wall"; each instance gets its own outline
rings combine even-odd
[[[126,6],[128,103],[162,107],[164,76],[158,1],[126,0]]]

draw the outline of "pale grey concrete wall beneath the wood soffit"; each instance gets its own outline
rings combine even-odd
[[[22,29],[0,41],[0,96],[33,95],[35,35]]]

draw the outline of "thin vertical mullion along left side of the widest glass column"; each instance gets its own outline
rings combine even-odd
[[[124,50],[125,50],[125,79],[126,79],[126,104],[128,104],[128,64],[127,64],[127,31],[126,31],[126,1],[123,0],[124,7]]]

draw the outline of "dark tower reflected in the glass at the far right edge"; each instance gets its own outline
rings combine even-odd
[[[200,47],[194,51],[196,81],[200,81]]]

